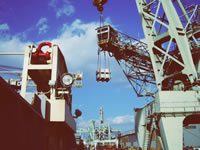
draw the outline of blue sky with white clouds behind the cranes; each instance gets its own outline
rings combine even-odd
[[[108,1],[104,19],[117,30],[136,39],[143,39],[141,21],[134,0]],[[43,41],[58,44],[68,70],[83,72],[83,88],[73,88],[73,110],[82,116],[78,128],[88,127],[104,110],[105,123],[123,131],[134,128],[133,108],[145,100],[137,98],[114,58],[110,58],[112,79],[96,82],[99,12],[92,0],[1,0],[0,51],[23,52],[28,44]],[[23,57],[0,56],[0,65],[22,67]]]

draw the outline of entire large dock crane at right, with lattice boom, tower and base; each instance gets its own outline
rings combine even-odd
[[[97,28],[100,51],[115,57],[138,96],[154,98],[135,110],[143,150],[150,149],[153,137],[158,148],[182,150],[183,127],[200,124],[200,9],[182,2],[136,0],[147,44],[119,38],[124,34],[109,25]],[[108,76],[98,72],[97,77]],[[145,92],[138,92],[138,85]],[[156,90],[150,92],[149,85]]]

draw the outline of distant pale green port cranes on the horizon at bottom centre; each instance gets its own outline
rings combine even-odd
[[[91,128],[89,129],[79,129],[77,133],[89,133],[89,137],[87,139],[87,145],[90,145],[90,148],[94,148],[95,150],[98,147],[108,146],[109,148],[118,148],[119,141],[116,137],[112,137],[113,133],[120,133],[120,130],[111,129],[110,125],[104,124],[103,117],[103,108],[100,108],[100,119],[99,119],[99,127],[97,128],[95,125],[95,120],[91,121]]]

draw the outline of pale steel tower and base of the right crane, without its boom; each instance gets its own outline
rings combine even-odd
[[[153,134],[163,149],[183,149],[183,126],[200,124],[200,10],[182,2],[136,0],[158,87],[138,120],[144,149]]]

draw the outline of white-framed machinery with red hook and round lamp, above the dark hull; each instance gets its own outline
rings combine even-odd
[[[0,55],[24,56],[21,72],[0,71],[0,74],[20,74],[21,79],[7,80],[7,82],[32,105],[38,99],[44,100],[45,107],[37,108],[43,109],[44,119],[50,122],[65,122],[73,132],[76,132],[74,118],[79,116],[73,115],[71,112],[71,88],[82,87],[83,75],[82,73],[71,74],[68,72],[64,56],[58,45],[43,42],[38,47],[26,46],[24,53],[1,52]],[[1,67],[13,68],[5,65],[1,65]],[[78,111],[76,110],[76,112]]]

